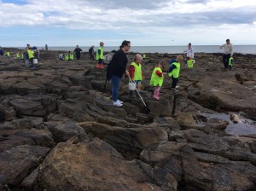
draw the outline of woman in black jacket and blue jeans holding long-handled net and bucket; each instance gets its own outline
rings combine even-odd
[[[126,70],[128,63],[126,54],[131,49],[131,42],[124,40],[119,48],[120,49],[113,55],[113,59],[107,67],[107,78],[112,81],[113,106],[122,107],[123,101],[119,101],[118,99],[119,83],[124,73],[130,76],[130,73]]]

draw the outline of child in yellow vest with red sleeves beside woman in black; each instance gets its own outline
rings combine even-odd
[[[136,83],[137,91],[141,91],[142,80],[143,80],[143,71],[141,62],[143,61],[143,56],[137,54],[134,56],[133,62],[131,62],[131,66],[129,67],[130,77],[134,83]],[[133,95],[134,90],[130,90],[130,96]]]

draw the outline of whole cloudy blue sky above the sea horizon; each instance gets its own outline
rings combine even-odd
[[[256,44],[255,0],[0,0],[0,46]]]

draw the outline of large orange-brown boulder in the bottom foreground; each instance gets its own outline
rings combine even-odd
[[[93,166],[93,168],[91,168]],[[142,165],[141,165],[142,166]],[[151,168],[148,165],[149,168]],[[145,167],[144,167],[145,168]],[[142,167],[125,161],[107,143],[99,139],[78,144],[58,144],[38,171],[37,185],[47,190],[150,190],[149,182],[163,178],[153,171],[153,178],[145,176]],[[58,175],[61,174],[61,177]],[[166,177],[168,190],[177,190],[177,183]],[[172,182],[170,180],[172,179]],[[153,185],[155,190],[160,186]],[[162,189],[165,190],[165,189]],[[167,189],[166,189],[167,190]]]

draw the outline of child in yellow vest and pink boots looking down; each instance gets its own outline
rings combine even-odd
[[[164,83],[164,72],[166,70],[166,61],[160,61],[158,64],[158,67],[154,68],[154,71],[152,72],[151,79],[150,79],[150,85],[154,86],[154,94],[153,97],[156,100],[160,100],[160,88],[162,84]]]

